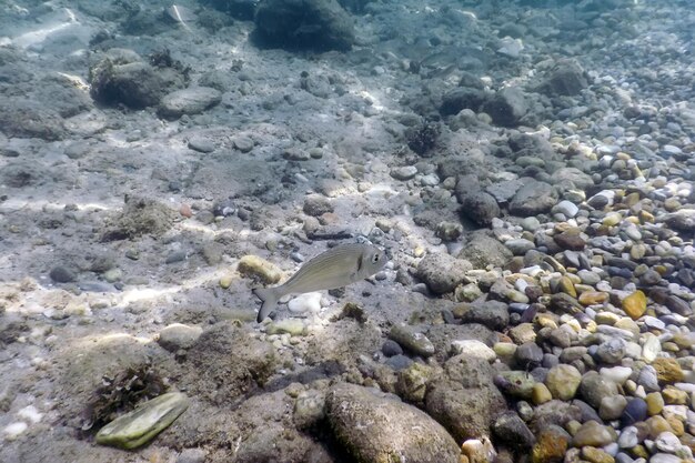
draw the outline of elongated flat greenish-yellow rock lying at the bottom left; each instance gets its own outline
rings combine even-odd
[[[170,392],[138,406],[97,433],[97,442],[121,449],[135,449],[151,441],[188,409],[189,400],[181,392]]]

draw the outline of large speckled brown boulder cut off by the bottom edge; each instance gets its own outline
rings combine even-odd
[[[366,387],[339,383],[326,395],[326,417],[338,442],[360,462],[459,461],[446,430],[422,411]],[[414,430],[417,430],[414,432]]]

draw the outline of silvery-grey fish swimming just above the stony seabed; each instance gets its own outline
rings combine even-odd
[[[306,262],[283,284],[259,288],[253,293],[263,301],[258,322],[262,322],[286,294],[333,290],[364,280],[386,264],[386,254],[365,243],[340,244]]]

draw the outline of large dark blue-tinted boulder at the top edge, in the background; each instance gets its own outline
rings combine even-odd
[[[272,47],[349,50],[355,40],[352,18],[335,0],[263,0],[255,27]]]

